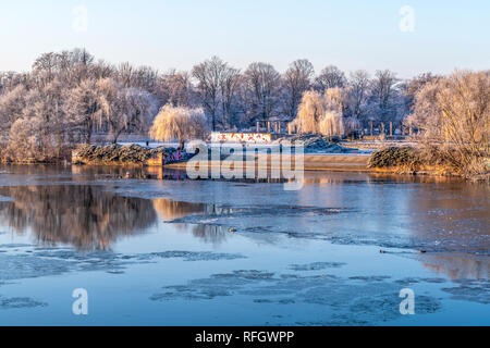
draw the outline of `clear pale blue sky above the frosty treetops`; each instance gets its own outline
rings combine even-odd
[[[400,12],[406,5],[414,21]],[[0,71],[26,71],[42,52],[75,47],[160,71],[215,54],[281,72],[298,58],[317,72],[334,64],[400,77],[482,70],[490,69],[490,1],[0,0]]]

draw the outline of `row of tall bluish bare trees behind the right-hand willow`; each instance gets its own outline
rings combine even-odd
[[[249,64],[242,73],[213,57],[196,65],[192,77],[196,82],[197,104],[211,116],[211,128],[216,129],[246,127],[257,120],[290,122],[296,117],[306,91],[322,95],[330,88],[340,88],[346,95],[343,116],[355,119],[359,125],[367,126],[369,121],[401,123],[411,111],[416,86],[431,75],[401,80],[385,70],[371,78],[359,70],[346,76],[331,65],[316,76],[313,64],[305,59],[291,63],[283,74],[262,62]]]

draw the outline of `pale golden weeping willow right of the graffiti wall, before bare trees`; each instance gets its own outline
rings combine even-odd
[[[309,90],[303,95],[296,119],[290,129],[298,133],[344,135],[342,117],[345,91],[343,88],[329,88],[324,95]]]

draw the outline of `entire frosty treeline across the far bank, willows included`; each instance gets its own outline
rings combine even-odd
[[[431,162],[486,173],[489,103],[489,71],[400,79],[389,70],[370,76],[327,66],[316,74],[308,60],[292,62],[283,73],[262,62],[241,71],[213,57],[188,72],[160,73],[74,49],[41,54],[27,73],[0,73],[0,158],[52,161],[96,136],[117,142],[123,134],[148,134],[160,111],[166,122],[172,120],[166,114],[199,115],[199,129],[207,123],[216,130],[254,129],[256,121],[272,120],[324,135],[404,125],[419,130],[415,137]],[[155,137],[168,138],[172,129],[166,124],[172,123],[166,122],[154,127]],[[177,133],[201,133],[195,128]]]

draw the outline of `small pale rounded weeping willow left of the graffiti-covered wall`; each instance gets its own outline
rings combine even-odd
[[[155,140],[168,141],[176,138],[181,150],[184,149],[187,139],[204,138],[206,134],[206,116],[201,109],[171,104],[160,109],[149,130],[150,137]]]

